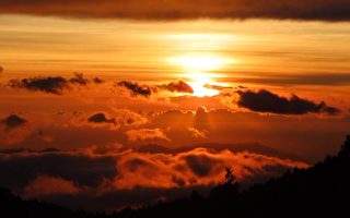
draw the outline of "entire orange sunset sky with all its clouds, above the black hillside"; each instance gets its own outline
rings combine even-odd
[[[67,7],[69,5],[69,7]],[[0,2],[1,186],[72,208],[248,186],[339,150],[349,1]]]

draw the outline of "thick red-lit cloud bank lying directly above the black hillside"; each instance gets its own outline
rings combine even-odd
[[[0,154],[0,185],[26,197],[68,206],[79,202],[79,207],[85,209],[90,204],[116,209],[140,199],[144,203],[184,195],[184,191],[189,193],[196,186],[209,187],[223,180],[228,166],[234,168],[243,183],[266,180],[294,166],[307,167],[246,152],[196,148],[150,154],[108,146],[80,152]]]

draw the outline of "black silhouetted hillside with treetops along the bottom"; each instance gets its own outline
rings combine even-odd
[[[240,192],[228,169],[225,181],[208,197],[196,191],[188,198],[141,209],[126,208],[118,214],[86,214],[63,207],[23,201],[0,191],[1,217],[350,217],[350,136],[339,154],[308,169],[294,169]]]

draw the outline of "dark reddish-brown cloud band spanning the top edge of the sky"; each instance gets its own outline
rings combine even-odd
[[[349,21],[349,0],[2,0],[0,13],[180,19],[289,19]]]

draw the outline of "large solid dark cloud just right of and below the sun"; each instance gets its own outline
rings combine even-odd
[[[258,92],[254,90],[237,90],[238,99],[236,101],[238,107],[247,108],[258,112],[271,112],[280,114],[305,114],[327,113],[335,116],[340,112],[339,109],[327,106],[324,101],[315,104],[311,100],[303,99],[296,95],[290,98],[278,96],[266,89]]]

